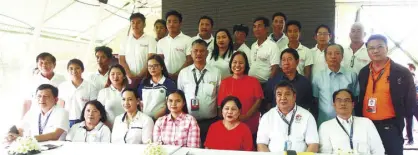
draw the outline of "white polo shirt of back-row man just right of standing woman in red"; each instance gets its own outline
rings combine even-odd
[[[260,46],[256,41],[251,46],[251,54],[248,55],[248,59],[251,62],[248,75],[264,83],[270,77],[271,66],[280,63],[280,51],[270,39],[265,40]]]

